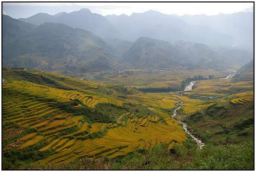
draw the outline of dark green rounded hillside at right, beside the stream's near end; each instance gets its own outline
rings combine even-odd
[[[238,144],[253,139],[254,104],[213,104],[185,118],[188,128],[205,143]]]

